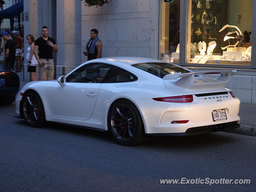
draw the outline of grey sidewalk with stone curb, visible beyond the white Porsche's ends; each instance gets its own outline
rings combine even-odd
[[[19,73],[18,73],[19,74]],[[20,75],[22,73],[20,72]],[[20,88],[27,82],[21,81]],[[240,127],[226,132],[236,133],[247,136],[256,136],[256,104],[240,104],[239,110]]]

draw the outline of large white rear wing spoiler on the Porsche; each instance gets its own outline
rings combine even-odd
[[[228,83],[228,80],[230,76],[236,75],[236,70],[212,70],[212,71],[201,71],[201,72],[191,72],[191,73],[174,73],[174,74],[168,74],[164,76],[163,80],[175,80],[178,79],[176,82],[173,82],[176,86],[181,86],[184,88],[193,89],[195,87],[200,88],[207,88],[210,87],[220,87]],[[212,75],[218,75],[216,78],[213,78]],[[212,82],[204,82],[204,83],[196,83],[194,76],[196,75],[202,75],[202,76],[208,76],[209,78],[212,78]]]

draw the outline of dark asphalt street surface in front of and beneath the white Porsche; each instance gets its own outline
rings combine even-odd
[[[256,137],[216,132],[120,146],[107,132],[32,128],[0,106],[0,192],[245,191],[256,189]],[[160,179],[250,179],[250,184],[160,184]]]

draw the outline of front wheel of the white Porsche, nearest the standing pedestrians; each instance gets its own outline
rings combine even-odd
[[[31,127],[41,127],[45,124],[43,102],[35,91],[28,91],[22,97],[22,116]]]

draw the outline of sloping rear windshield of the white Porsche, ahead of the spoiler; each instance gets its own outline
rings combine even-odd
[[[168,74],[174,74],[178,72],[190,73],[189,70],[186,70],[180,66],[177,66],[171,63],[150,62],[150,63],[133,64],[132,66],[139,68],[141,70],[144,70],[146,72],[149,72],[160,78],[163,78]]]

